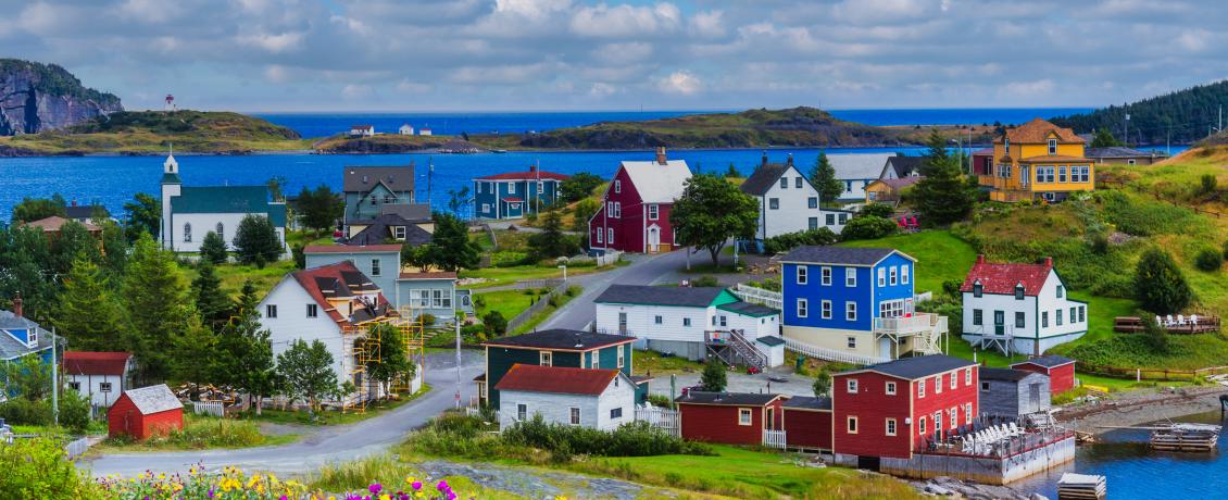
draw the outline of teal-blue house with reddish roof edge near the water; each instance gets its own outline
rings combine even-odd
[[[559,187],[569,176],[542,172],[529,166],[526,172],[507,172],[473,179],[473,216],[475,219],[519,219],[538,211],[559,197]]]

